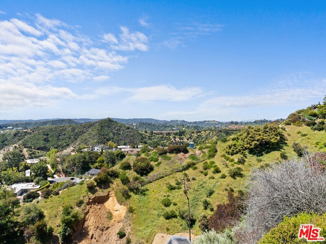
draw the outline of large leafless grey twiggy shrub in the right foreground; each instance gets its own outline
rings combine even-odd
[[[242,237],[252,237],[247,242],[254,243],[284,216],[326,212],[325,161],[326,154],[319,153],[256,169],[250,180]]]

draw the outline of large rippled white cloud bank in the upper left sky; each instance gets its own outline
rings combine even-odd
[[[104,49],[100,40],[40,14],[0,21],[0,110],[76,98],[69,83],[108,80],[128,62],[118,51],[148,50],[144,34],[121,31],[116,40],[105,35],[112,45]]]

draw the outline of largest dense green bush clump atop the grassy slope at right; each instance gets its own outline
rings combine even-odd
[[[232,138],[226,153],[235,155],[248,151],[252,155],[263,155],[281,149],[285,143],[286,137],[276,124],[248,126]]]

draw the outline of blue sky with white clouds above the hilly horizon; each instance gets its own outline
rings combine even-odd
[[[0,119],[286,118],[326,95],[325,1],[0,1]]]

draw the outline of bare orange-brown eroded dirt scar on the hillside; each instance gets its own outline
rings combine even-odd
[[[112,220],[108,221],[107,212],[112,212]],[[73,243],[79,244],[107,244],[122,243],[117,233],[122,227],[126,207],[118,203],[114,192],[106,202],[88,205],[88,214],[80,233]]]

